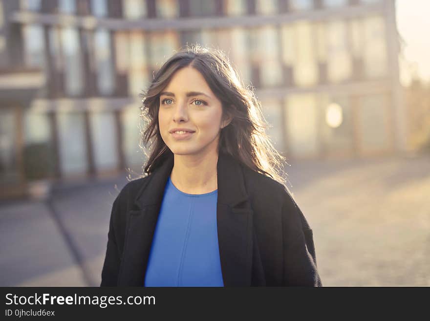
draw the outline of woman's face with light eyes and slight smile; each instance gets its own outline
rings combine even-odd
[[[165,144],[176,155],[197,155],[217,149],[221,102],[193,67],[176,71],[160,94],[158,126]],[[192,132],[172,132],[183,128]]]

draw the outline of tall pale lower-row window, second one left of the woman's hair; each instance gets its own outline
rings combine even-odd
[[[115,117],[109,111],[90,113],[94,161],[97,171],[118,166],[118,148]]]

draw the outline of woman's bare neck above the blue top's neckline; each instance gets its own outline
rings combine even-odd
[[[204,155],[174,155],[171,173],[173,185],[181,192],[204,194],[218,188],[218,153]]]

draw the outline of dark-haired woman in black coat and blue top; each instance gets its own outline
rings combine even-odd
[[[112,206],[102,286],[321,286],[251,88],[219,50],[175,53],[144,95],[146,177]]]

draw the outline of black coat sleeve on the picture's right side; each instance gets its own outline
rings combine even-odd
[[[291,195],[282,205],[283,286],[323,286],[312,229]]]

